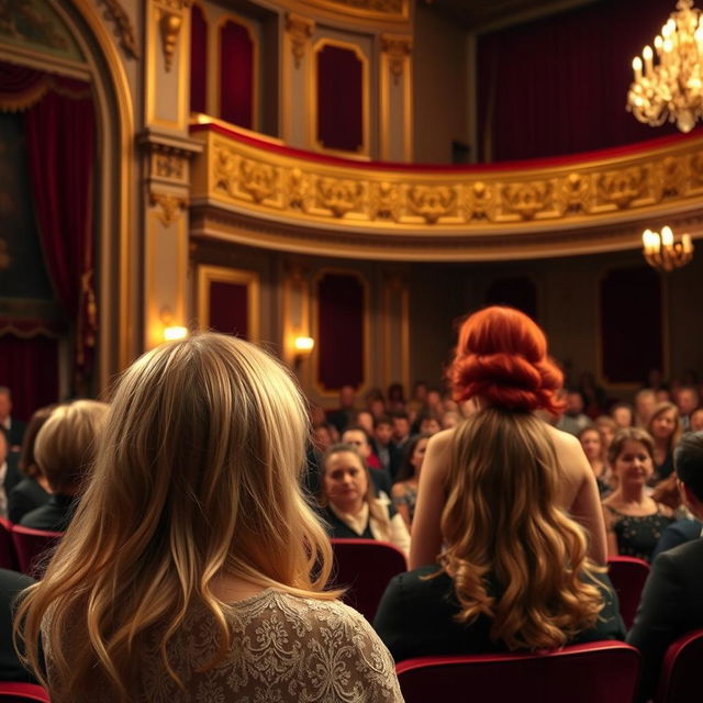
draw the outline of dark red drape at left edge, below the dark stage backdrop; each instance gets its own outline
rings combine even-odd
[[[32,413],[58,400],[58,343],[51,337],[0,336],[0,386],[12,390],[12,414]]]

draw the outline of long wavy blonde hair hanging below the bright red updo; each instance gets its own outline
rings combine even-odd
[[[491,638],[510,649],[560,647],[603,607],[587,537],[557,507],[559,475],[547,429],[529,413],[488,408],[455,431],[439,562],[457,620],[488,616]]]

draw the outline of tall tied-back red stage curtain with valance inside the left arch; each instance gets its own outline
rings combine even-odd
[[[79,380],[90,371],[98,328],[92,231],[96,116],[91,87],[2,63],[0,109],[23,111],[44,264],[56,298],[76,327],[74,370]],[[25,344],[30,342],[23,339]],[[37,348],[45,344],[48,342],[37,342]],[[52,344],[55,349],[55,342]],[[27,353],[27,359],[31,356]],[[33,367],[27,365],[27,369],[31,373]]]

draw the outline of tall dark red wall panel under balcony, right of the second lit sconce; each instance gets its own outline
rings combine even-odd
[[[364,383],[365,308],[356,276],[327,274],[317,283],[317,380],[327,390]]]

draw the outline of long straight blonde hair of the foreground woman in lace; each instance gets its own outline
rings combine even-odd
[[[219,627],[215,666],[232,645],[215,577],[336,596],[322,590],[331,547],[299,486],[306,436],[289,373],[234,337],[166,344],[125,371],[70,528],[18,613],[40,679],[42,633],[52,700],[100,681],[134,700],[154,634],[182,687],[167,646],[197,604]]]

